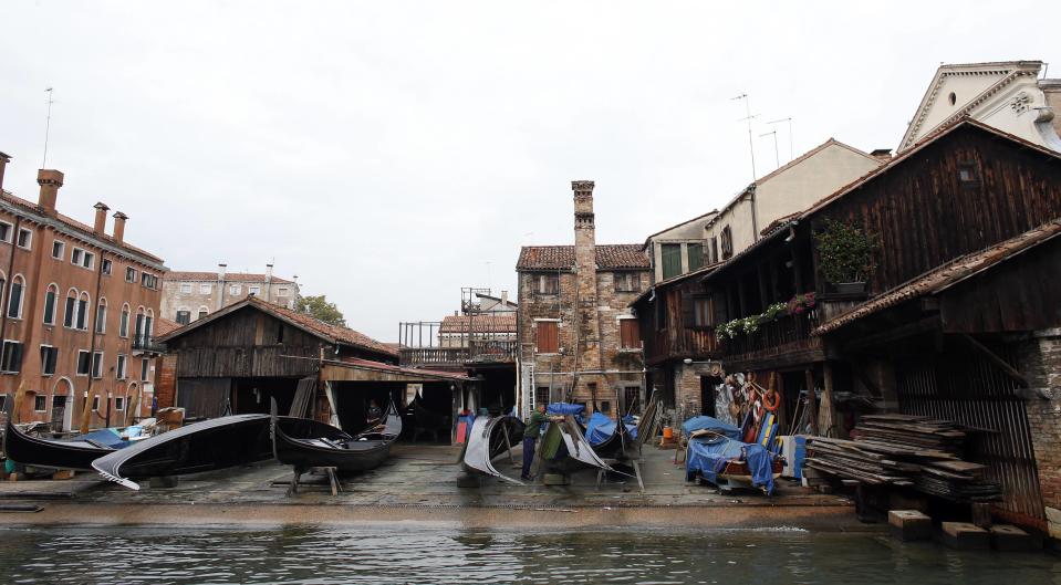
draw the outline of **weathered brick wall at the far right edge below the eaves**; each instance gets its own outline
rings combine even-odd
[[[1061,539],[1061,328],[1038,332],[1018,361],[1029,386],[1050,395],[1030,398],[1026,409],[1050,535]]]

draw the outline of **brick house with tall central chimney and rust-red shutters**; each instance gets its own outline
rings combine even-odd
[[[520,251],[520,405],[583,403],[614,416],[644,404],[644,364],[630,303],[649,285],[643,244],[596,244],[593,181],[572,181],[574,246]]]

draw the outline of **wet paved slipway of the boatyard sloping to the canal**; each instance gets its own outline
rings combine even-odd
[[[685,481],[673,450],[646,447],[642,459],[645,491],[632,478],[613,477],[596,487],[584,470],[572,483],[516,485],[485,478],[462,488],[465,474],[455,447],[397,445],[379,468],[343,479],[332,495],[323,476],[303,476],[298,494],[287,495],[291,469],[275,462],[180,478],[174,488],[139,491],[92,473],[70,480],[0,482],[0,502],[35,503],[37,513],[4,514],[25,524],[290,524],[427,522],[475,527],[808,527],[862,531],[850,500],[820,494],[779,480],[773,495],[719,493]],[[518,456],[517,456],[518,463]],[[519,469],[499,460],[502,473]]]

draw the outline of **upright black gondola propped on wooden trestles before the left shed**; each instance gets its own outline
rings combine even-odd
[[[387,407],[382,429],[373,428],[350,436],[331,425],[310,419],[273,417],[273,455],[294,466],[295,474],[313,467],[334,467],[337,471],[366,471],[378,467],[391,455],[391,446],[402,435],[402,417],[394,403]]]

